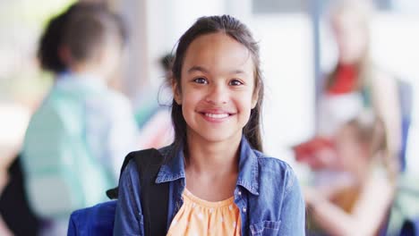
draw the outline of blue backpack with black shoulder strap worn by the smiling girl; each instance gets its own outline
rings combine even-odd
[[[121,174],[131,160],[137,166],[141,182],[144,233],[147,236],[164,236],[167,234],[169,183],[155,182],[164,156],[155,148],[132,152],[125,157]],[[111,199],[117,198],[118,188],[107,190],[107,196]],[[67,235],[113,235],[115,208],[116,200],[111,200],[73,212]]]

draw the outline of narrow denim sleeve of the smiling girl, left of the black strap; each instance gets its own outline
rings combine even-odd
[[[140,196],[139,173],[130,161],[119,180],[114,235],[144,235]]]

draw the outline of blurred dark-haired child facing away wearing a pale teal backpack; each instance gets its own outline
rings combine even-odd
[[[41,66],[56,80],[30,120],[22,164],[31,207],[53,219],[42,234],[64,235],[74,209],[105,200],[136,148],[131,104],[107,88],[123,46],[122,22],[102,4],[73,4],[40,40]]]

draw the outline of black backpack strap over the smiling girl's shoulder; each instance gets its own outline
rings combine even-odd
[[[140,173],[145,235],[166,235],[169,184],[155,182],[164,156],[155,148],[132,152],[125,157],[121,173],[124,172],[124,168],[131,159],[135,161],[138,173]],[[117,195],[117,187],[107,190],[107,197],[117,198]]]

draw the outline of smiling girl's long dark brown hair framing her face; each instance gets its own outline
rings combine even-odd
[[[244,45],[252,56],[254,64],[255,87],[253,94],[258,95],[256,106],[252,109],[249,122],[244,126],[244,137],[252,148],[262,151],[261,143],[261,105],[263,100],[263,81],[260,69],[259,46],[253,39],[250,30],[240,21],[229,15],[201,17],[179,39],[175,50],[175,60],[172,67],[172,80],[175,80],[179,92],[181,91],[182,66],[188,46],[202,35],[222,32]],[[172,122],[175,128],[175,147],[181,147],[186,142],[186,122],[182,114],[182,105],[172,101]]]

